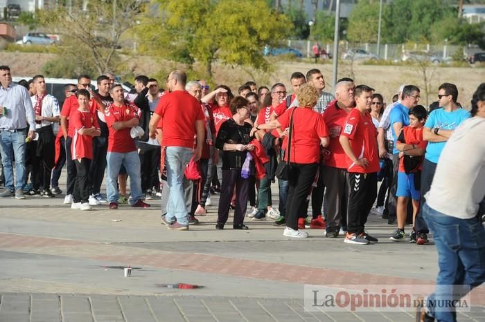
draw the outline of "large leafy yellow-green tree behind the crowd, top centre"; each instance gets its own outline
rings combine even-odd
[[[267,69],[265,44],[278,44],[292,23],[265,0],[157,0],[137,35],[143,50],[188,64],[195,61],[212,77],[216,60],[223,64]],[[157,21],[155,23],[155,21]]]

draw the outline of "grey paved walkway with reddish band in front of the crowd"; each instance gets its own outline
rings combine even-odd
[[[433,285],[437,274],[432,243],[391,243],[394,227],[375,216],[368,229],[380,242],[348,245],[317,229],[290,240],[270,220],[218,231],[215,206],[189,231],[169,231],[160,200],[116,211],[62,200],[0,199],[0,321],[413,321],[404,311],[305,312],[303,285]],[[203,287],[161,286],[172,283]],[[472,304],[459,321],[485,321],[484,287]]]

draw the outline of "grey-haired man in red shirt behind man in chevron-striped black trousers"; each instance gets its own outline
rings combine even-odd
[[[342,81],[335,85],[336,100],[324,111],[324,121],[330,133],[330,144],[324,150],[324,167],[321,171],[325,187],[326,237],[336,238],[340,229],[346,231],[347,196],[346,155],[339,138],[347,115],[355,106],[353,82]],[[323,190],[323,189],[322,189]]]

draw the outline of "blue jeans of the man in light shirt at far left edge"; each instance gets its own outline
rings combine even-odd
[[[26,132],[10,132],[3,130],[0,133],[0,153],[3,173],[5,174],[5,189],[15,191],[12,161],[15,156],[15,173],[17,174],[17,189],[22,189],[25,176]]]

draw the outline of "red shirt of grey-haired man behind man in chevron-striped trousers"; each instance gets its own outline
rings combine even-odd
[[[337,101],[329,104],[322,114],[328,133],[330,133],[330,143],[325,148],[325,165],[339,169],[347,169],[347,161],[344,149],[340,145],[340,133],[344,128],[347,113],[344,109],[337,106]]]

